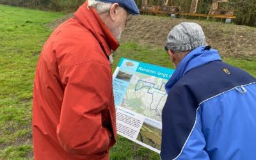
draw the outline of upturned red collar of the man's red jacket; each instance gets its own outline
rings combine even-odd
[[[80,6],[74,15],[85,28],[93,33],[108,56],[111,55],[111,50],[116,51],[119,47],[118,40],[100,19],[97,11],[92,7],[88,8],[87,1]]]

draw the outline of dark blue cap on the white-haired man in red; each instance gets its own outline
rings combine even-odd
[[[138,9],[138,6],[134,2],[134,0],[95,0],[100,2],[106,2],[106,3],[118,3],[122,8],[127,10],[127,12],[131,13],[132,15],[139,15],[140,11]]]

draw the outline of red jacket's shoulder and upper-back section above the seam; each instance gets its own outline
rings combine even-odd
[[[60,72],[85,63],[104,64],[108,68],[110,66],[108,57],[92,31],[74,18],[63,22],[53,31],[42,52],[47,61],[53,55],[56,57]]]

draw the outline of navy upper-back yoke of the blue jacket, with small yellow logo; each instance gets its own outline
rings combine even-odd
[[[222,61],[212,61],[189,70],[173,86],[172,92],[193,95],[196,101],[202,102],[237,86],[253,82],[256,82],[256,79],[244,70]]]

